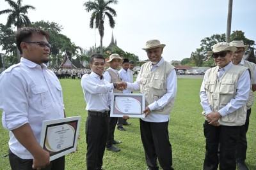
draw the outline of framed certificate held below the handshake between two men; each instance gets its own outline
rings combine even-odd
[[[129,117],[145,118],[145,94],[134,93],[113,93],[111,99],[110,117]]]

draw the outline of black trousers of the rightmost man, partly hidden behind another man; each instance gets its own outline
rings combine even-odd
[[[246,133],[249,128],[249,118],[251,115],[251,109],[247,110],[246,121],[245,124],[240,127],[239,139],[236,144],[236,161],[242,161],[246,159],[246,151],[247,151],[247,139]]]

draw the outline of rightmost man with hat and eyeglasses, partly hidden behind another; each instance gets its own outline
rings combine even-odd
[[[230,43],[231,46],[236,46],[237,51],[232,55],[232,63],[238,66],[248,67],[250,69],[250,94],[249,99],[246,102],[246,121],[245,124],[240,128],[239,140],[236,145],[236,162],[237,168],[239,170],[246,170],[248,167],[245,164],[246,159],[246,150],[247,150],[247,140],[246,140],[246,133],[249,127],[249,118],[251,115],[251,107],[254,103],[254,91],[256,90],[256,64],[253,62],[249,62],[248,60],[243,60],[243,55],[248,45],[244,45],[243,41],[232,41]]]

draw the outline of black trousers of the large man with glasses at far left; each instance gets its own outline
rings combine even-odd
[[[21,159],[9,150],[9,161],[12,170],[32,170],[33,159]],[[64,170],[65,156],[52,160],[50,165],[42,170]]]

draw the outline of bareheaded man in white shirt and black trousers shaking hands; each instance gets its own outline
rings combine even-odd
[[[101,54],[93,54],[90,59],[90,74],[84,74],[81,86],[86,101],[86,166],[87,169],[102,169],[102,159],[109,132],[109,106],[115,83],[109,83],[102,75],[105,60]]]

